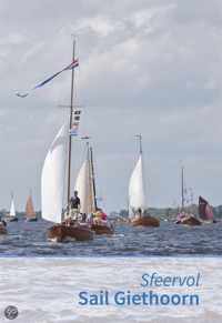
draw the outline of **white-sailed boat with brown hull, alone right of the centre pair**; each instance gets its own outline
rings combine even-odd
[[[129,183],[129,216],[133,226],[159,226],[160,221],[147,213],[145,184],[143,173],[142,135],[137,135],[140,142],[139,159]]]

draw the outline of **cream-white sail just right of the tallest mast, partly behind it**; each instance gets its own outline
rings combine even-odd
[[[85,214],[94,212],[92,170],[89,158],[85,159],[79,171],[74,190],[78,191],[80,198],[80,212]]]

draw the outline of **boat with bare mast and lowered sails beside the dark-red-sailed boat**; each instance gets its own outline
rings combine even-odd
[[[176,216],[175,224],[184,224],[190,226],[201,225],[201,221],[191,212],[185,211],[185,198],[184,198],[184,166],[181,168],[181,211]]]

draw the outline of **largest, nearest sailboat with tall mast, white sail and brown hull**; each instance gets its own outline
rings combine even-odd
[[[73,55],[74,61],[74,42]],[[74,70],[71,79],[71,103],[69,123],[61,127],[54,138],[43,163],[41,174],[41,212],[44,220],[54,222],[48,230],[48,239],[57,242],[65,240],[85,241],[93,239],[93,232],[85,223],[70,216],[71,157],[73,125],[73,85]],[[68,178],[65,179],[65,174]],[[65,188],[67,184],[67,188]],[[64,206],[67,189],[67,205]]]

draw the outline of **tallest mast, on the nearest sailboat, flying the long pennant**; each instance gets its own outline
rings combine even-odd
[[[74,53],[75,53],[75,40],[73,40],[73,50],[72,50],[72,61],[74,61]],[[72,77],[71,77],[71,98],[70,98],[70,124],[69,129],[72,128],[72,113],[73,113],[73,95],[74,95],[74,69],[72,69]],[[71,161],[72,161],[72,137],[69,134],[69,151],[68,151],[68,205],[70,201],[70,190],[71,190]]]

